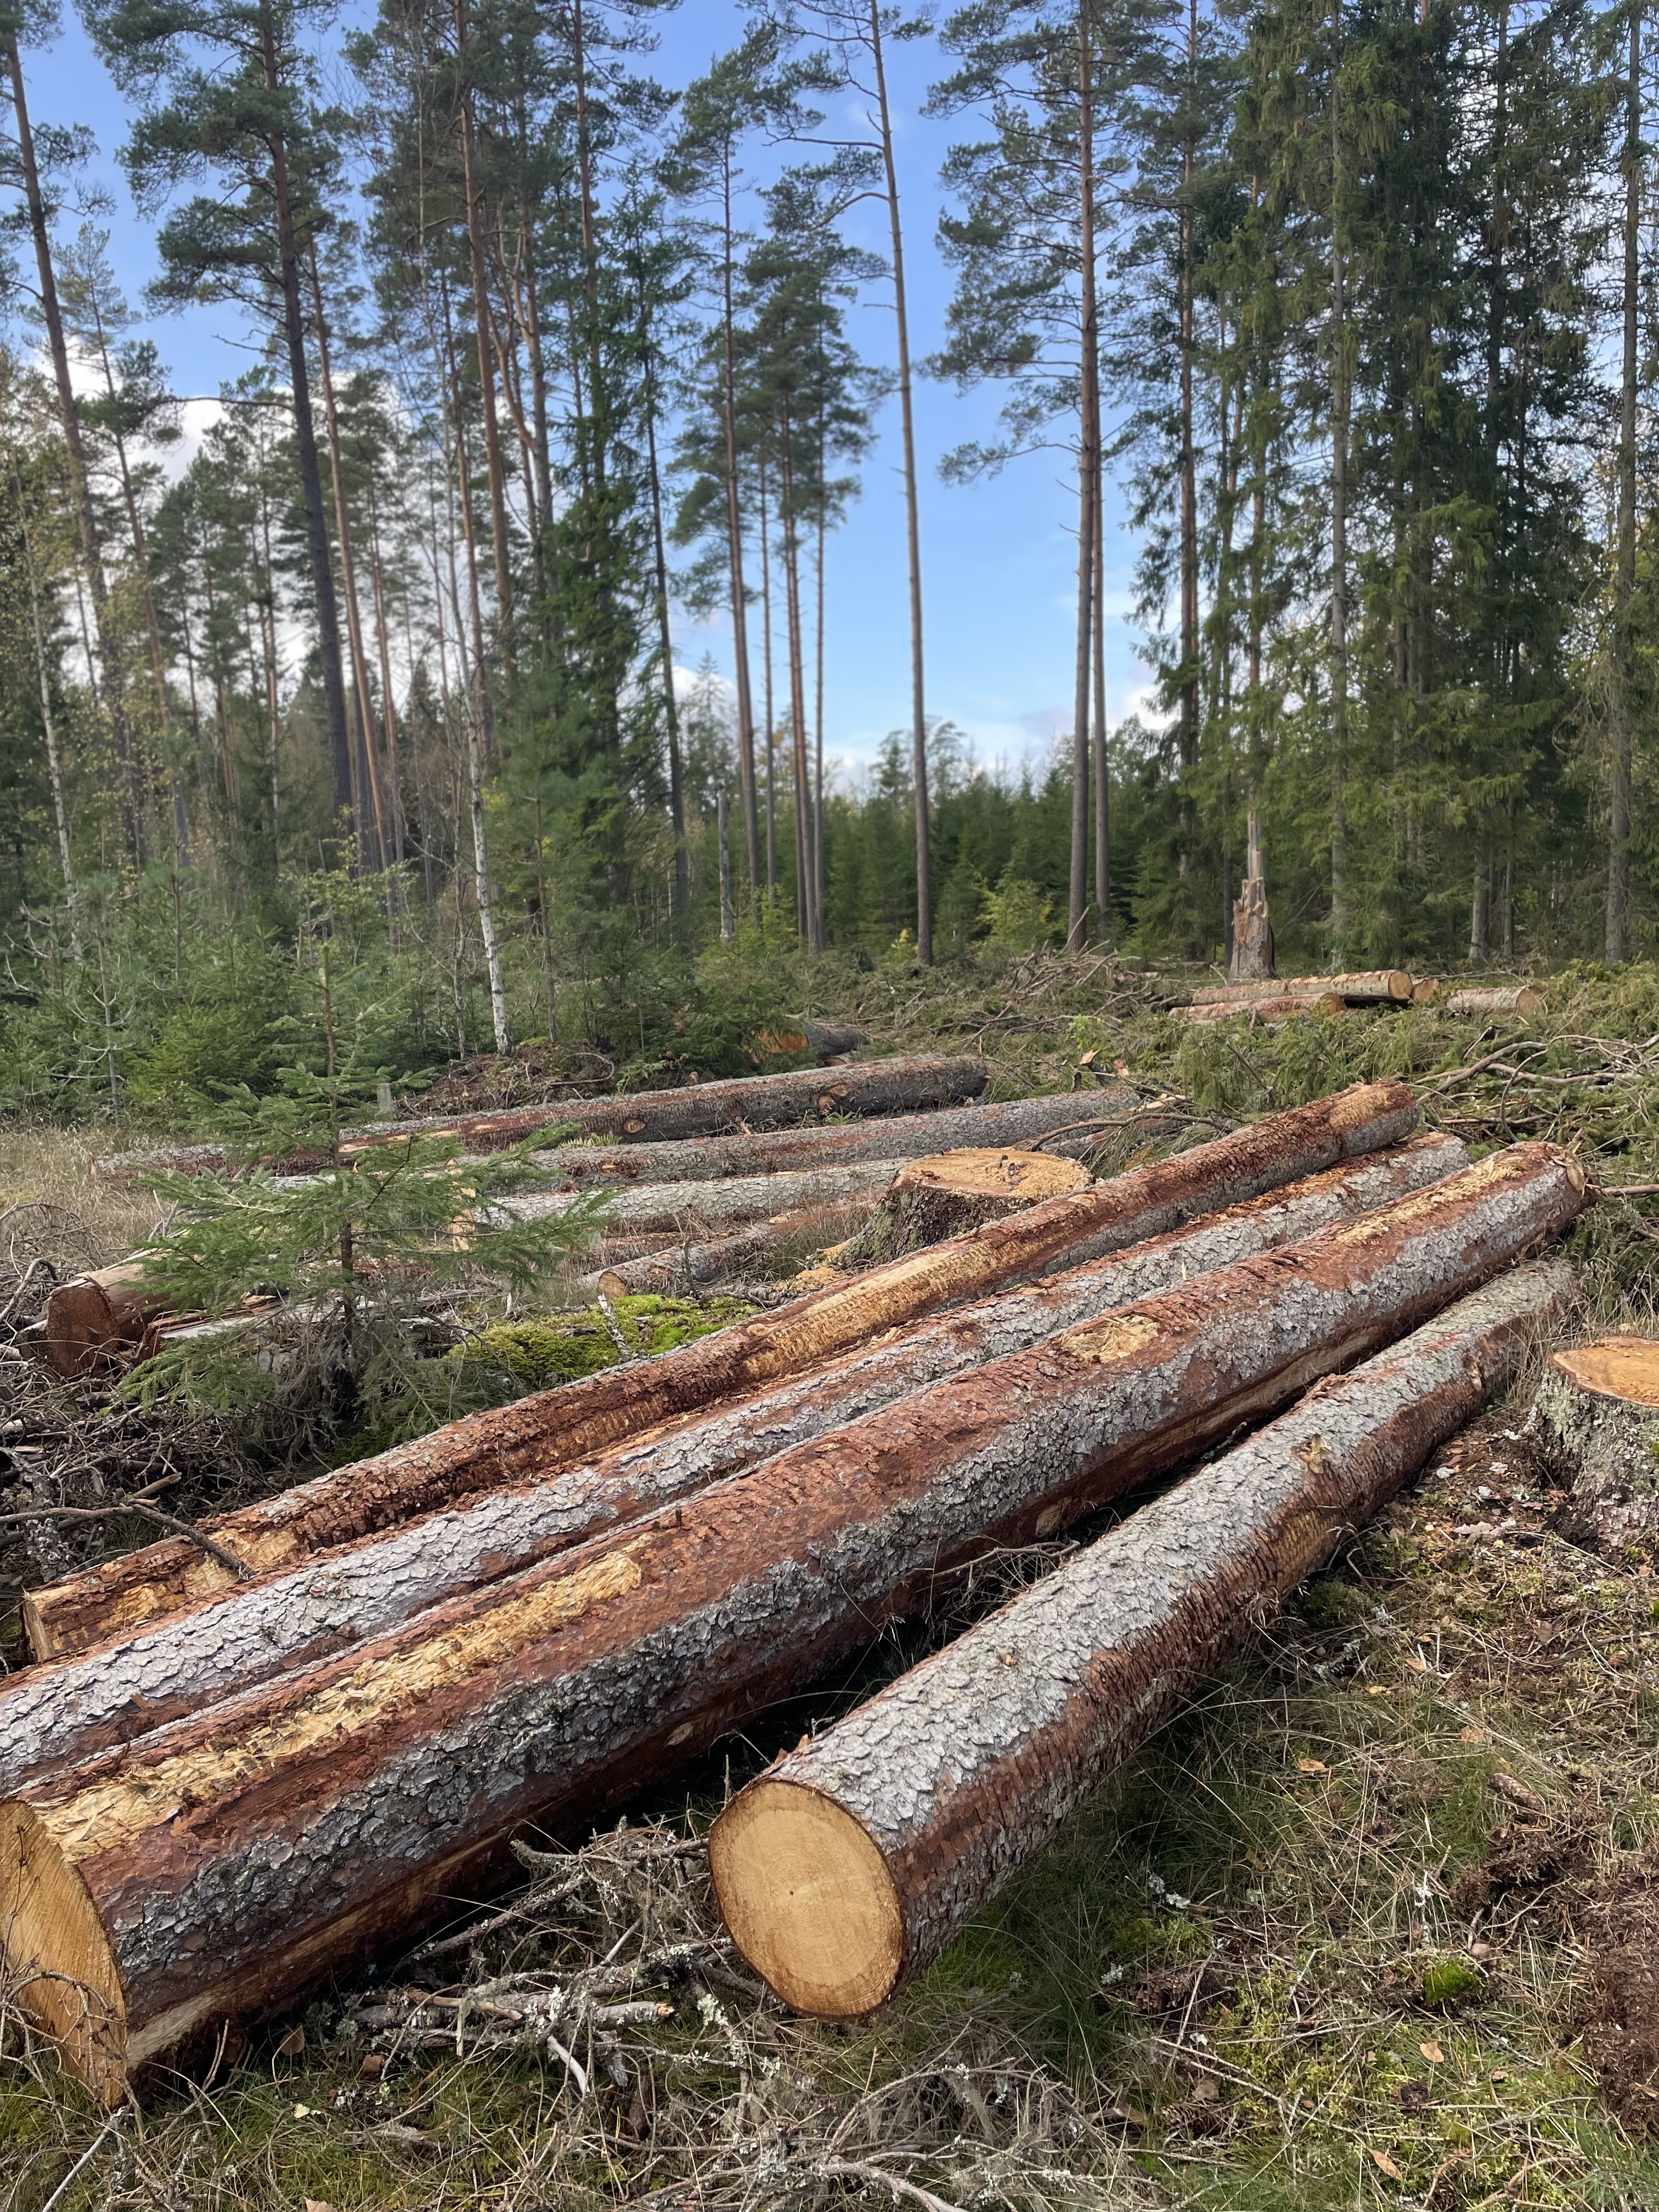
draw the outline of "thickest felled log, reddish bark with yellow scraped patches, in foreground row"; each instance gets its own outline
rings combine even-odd
[[[1575,1161],[1515,1146],[44,1776],[0,1805],[7,1982],[113,2104],[438,1911],[522,1820],[637,1794],[980,1546],[1279,1409],[1582,1203]]]

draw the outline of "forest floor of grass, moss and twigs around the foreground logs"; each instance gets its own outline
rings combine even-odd
[[[1562,978],[1542,1015],[1491,1033],[1425,1011],[1181,1031],[1164,995],[1175,978],[1031,962],[847,973],[810,1011],[880,1046],[978,1046],[1002,1095],[1126,1077],[1175,1097],[1192,1135],[1407,1073],[1425,1117],[1475,1146],[1553,1135],[1604,1188],[1659,1183],[1652,969]],[[1126,1126],[1108,1164],[1135,1141]],[[62,1144],[0,1152],[0,1183],[33,1159],[44,1190],[51,1157],[77,1203],[69,1146],[93,1146]],[[1575,1232],[1575,1334],[1652,1325],[1650,1219],[1650,1199],[1610,1197]],[[1062,1546],[765,1714],[633,1827],[538,1863],[531,1900],[571,1885],[560,1905],[385,1962],[113,2124],[13,2020],[0,2212],[1650,2212],[1659,1579],[1555,1531],[1526,1396],[1464,1431],[872,2022],[790,2020],[737,1973],[677,1838]],[[613,2053],[462,2033],[453,1993],[531,1969],[568,1982],[606,1955],[672,2006]]]

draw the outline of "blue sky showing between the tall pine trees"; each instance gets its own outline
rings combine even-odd
[[[343,11],[341,22],[358,9]],[[721,0],[684,0],[661,27],[653,66],[666,84],[684,84],[710,58],[734,44],[741,11]],[[889,91],[898,119],[900,201],[911,296],[911,352],[929,354],[942,336],[951,272],[940,261],[933,226],[942,206],[938,168],[947,146],[967,128],[920,115],[929,82],[940,75],[931,40],[896,46]],[[126,119],[119,95],[91,51],[73,4],[49,49],[27,55],[31,108],[38,119],[86,124],[100,146],[97,179],[113,192],[111,257],[122,285],[139,303],[155,270],[150,226],[142,223],[115,159]],[[858,243],[883,250],[885,210],[858,212]],[[177,389],[212,394],[248,367],[248,334],[232,310],[166,316],[153,334],[170,363]],[[894,316],[887,290],[872,288],[854,312],[852,334],[876,363],[891,363]],[[1042,759],[1060,730],[1071,728],[1071,664],[1075,626],[1075,487],[1060,453],[1035,453],[1000,478],[973,487],[938,480],[938,458],[964,438],[993,427],[993,392],[958,398],[922,380],[916,394],[918,456],[922,465],[922,586],[927,622],[929,712],[947,714],[973,741],[987,765],[1018,768]],[[898,403],[880,414],[880,442],[863,469],[863,498],[830,549],[830,619],[825,679],[825,754],[856,772],[883,734],[907,719],[909,624],[905,599],[905,511],[898,451]],[[1121,529],[1121,502],[1106,509],[1106,692],[1117,721],[1139,701],[1146,666],[1126,622],[1135,546]],[[719,622],[695,624],[677,615],[677,659],[695,666],[703,653],[730,670],[728,633]]]

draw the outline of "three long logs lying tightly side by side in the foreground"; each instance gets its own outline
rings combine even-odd
[[[1279,1411],[1584,1203],[1582,1170],[1551,1146],[1447,1175],[1440,1141],[1285,1192],[1281,1232],[1325,1208],[1303,1241],[1263,1250],[1272,1208],[1210,1219],[1411,1121],[1402,1086],[1365,1086],[546,1394],[520,1427],[513,1407],[338,1471],[310,1502],[219,1524],[263,1584],[226,1595],[221,1566],[192,1579],[217,1562],[153,1546],[38,1593],[40,1641],[122,1641],[7,1692],[7,1980],[115,2101],[146,2059],[281,2008],[438,1913],[522,1820],[615,1805],[940,1573]],[[1354,1217],[1365,1177],[1369,1197],[1405,1194]],[[650,1469],[668,1484],[655,1495]],[[546,1502],[566,1478],[560,1535]],[[495,1546],[473,1544],[458,1588],[473,1511],[498,1513]],[[509,1571],[526,1544],[553,1555]],[[301,1577],[325,1599],[334,1568],[336,1648],[290,1641],[268,1666],[261,1606],[281,1644]],[[414,1604],[387,1613],[376,1593],[396,1588]],[[241,1639],[254,1674],[215,1677],[215,1639]],[[84,1756],[77,1714],[108,1747]]]

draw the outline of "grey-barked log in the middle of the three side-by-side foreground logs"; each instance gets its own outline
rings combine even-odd
[[[0,1790],[385,1635],[462,1590],[611,1533],[949,1376],[1352,1221],[1464,1166],[1455,1137],[1418,1137],[1398,1152],[1332,1168],[1168,1237],[958,1307],[542,1482],[469,1498],[299,1568],[232,1584],[133,1637],[24,1670],[0,1686]]]

